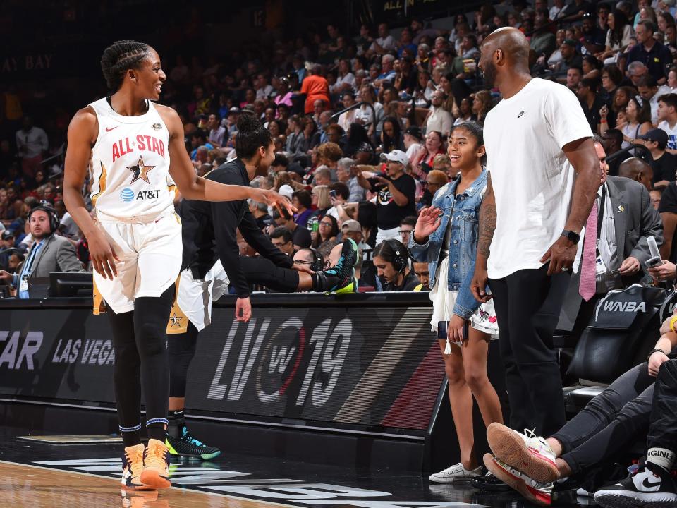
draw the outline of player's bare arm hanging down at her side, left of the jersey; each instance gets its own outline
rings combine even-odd
[[[89,108],[80,109],[68,126],[68,150],[63,171],[63,202],[75,224],[87,238],[92,267],[104,279],[117,275],[115,250],[90,217],[83,199],[83,185],[87,166],[92,156],[92,146],[98,134],[97,116]]]

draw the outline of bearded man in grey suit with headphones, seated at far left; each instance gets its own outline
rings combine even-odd
[[[17,298],[30,298],[28,282],[37,277],[49,277],[49,272],[84,272],[83,264],[75,255],[73,244],[54,232],[59,227],[56,210],[40,205],[28,213],[30,234],[35,241],[28,250],[21,271],[11,274],[0,270],[0,280],[16,289]]]

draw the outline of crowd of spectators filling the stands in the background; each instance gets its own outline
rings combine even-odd
[[[393,240],[406,252],[417,212],[456,178],[446,150],[450,129],[469,120],[481,124],[500,100],[495,90],[482,86],[480,45],[496,28],[512,26],[530,39],[532,74],[557,80],[578,95],[606,154],[632,149],[611,158],[609,174],[618,175],[623,159],[633,155],[650,164],[648,188],[665,226],[661,253],[674,261],[674,4],[513,0],[487,2],[441,23],[412,19],[397,28],[362,25],[357,33],[343,33],[330,23],[323,33],[274,42],[267,49],[272,56],[265,58],[255,48],[227,64],[171,56],[164,61],[168,79],[161,102],[180,114],[186,150],[201,175],[237,156],[238,116],[257,116],[274,137],[276,158],[269,176],[252,185],[275,188],[298,208],[294,217],[281,217],[252,203],[262,229],[281,245],[293,246],[290,255],[312,247],[323,259],[343,235],[352,234],[371,267],[362,270],[360,285],[402,290],[410,272],[398,272],[393,280],[387,270],[374,267],[370,251]],[[14,250],[0,254],[0,269],[20,267],[33,239],[27,214],[40,202],[54,206],[59,234],[71,239],[86,266],[86,243],[61,199],[62,147],[50,145],[39,123],[23,114],[16,92],[9,88],[2,99],[1,248]],[[61,116],[50,124],[65,131]],[[635,179],[645,183],[647,171]],[[417,273],[425,272],[419,268]],[[412,260],[408,270],[413,274]]]

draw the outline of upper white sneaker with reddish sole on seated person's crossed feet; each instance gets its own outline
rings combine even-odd
[[[539,483],[551,483],[559,478],[557,458],[543,437],[531,430],[524,433],[492,423],[487,428],[487,442],[499,461],[525,473]]]

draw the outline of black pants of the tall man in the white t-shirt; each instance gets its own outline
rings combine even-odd
[[[551,435],[566,423],[564,396],[553,347],[570,275],[548,276],[548,265],[489,279],[506,368],[510,427]]]

